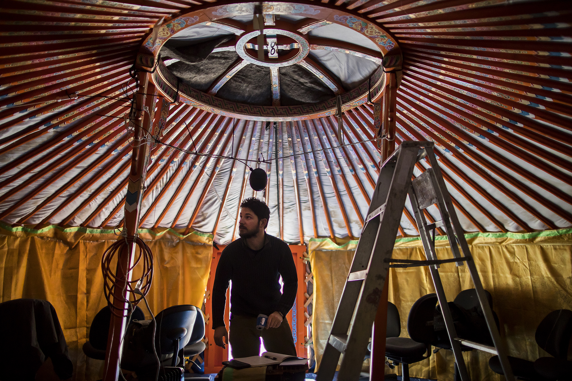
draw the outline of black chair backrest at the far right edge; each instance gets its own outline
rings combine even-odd
[[[543,350],[555,358],[566,360],[570,336],[572,336],[572,311],[557,309],[546,315],[546,318],[538,324],[534,338]]]

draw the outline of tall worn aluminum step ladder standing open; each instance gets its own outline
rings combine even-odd
[[[490,305],[443,181],[433,146],[434,144],[428,141],[403,142],[383,163],[362,236],[353,256],[349,275],[333,320],[328,343],[321,358],[316,378],[318,381],[333,379],[340,355],[343,355],[343,358],[337,380],[355,381],[359,379],[371,336],[371,327],[378,311],[389,268],[427,265],[430,268],[461,380],[470,380],[461,352],[461,344],[463,344],[498,355],[506,380],[514,381],[505,343],[502,342],[492,318]],[[415,163],[423,158],[428,160],[431,167],[411,180]],[[407,195],[410,197],[415,212],[427,260],[391,259]],[[428,224],[423,209],[434,204],[438,207],[441,220]],[[435,229],[439,227],[447,234],[454,256],[451,259],[439,260],[436,255]],[[439,264],[450,262],[455,262],[458,266],[467,263],[494,347],[464,340],[456,335],[451,311],[439,276]],[[390,263],[398,264],[390,265]]]

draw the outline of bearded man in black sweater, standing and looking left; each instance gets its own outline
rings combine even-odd
[[[212,295],[215,344],[225,348],[230,339],[233,358],[258,356],[260,338],[267,351],[296,356],[292,331],[288,322],[283,323],[296,299],[296,267],[288,244],[265,232],[269,218],[270,209],[264,201],[255,197],[243,200],[240,238],[223,250],[216,268]],[[224,324],[229,281],[230,337]],[[261,331],[256,329],[260,313],[268,315],[267,326]]]

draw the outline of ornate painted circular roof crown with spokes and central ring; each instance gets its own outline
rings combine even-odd
[[[292,3],[265,3],[259,18],[256,7],[221,5],[172,19],[145,40],[138,64],[153,70],[172,101],[289,121],[336,114],[338,96],[342,111],[379,98],[383,68],[401,63],[394,39],[370,21]]]

